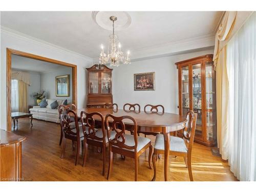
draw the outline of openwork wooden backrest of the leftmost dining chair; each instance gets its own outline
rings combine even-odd
[[[73,110],[61,108],[59,110],[59,115],[60,115],[61,129],[65,134],[65,137],[70,136],[70,137],[80,138],[78,118],[77,118],[76,112]],[[70,124],[71,122],[75,122],[74,123],[75,127],[74,125],[71,126]],[[75,132],[73,131],[74,128],[76,129]]]

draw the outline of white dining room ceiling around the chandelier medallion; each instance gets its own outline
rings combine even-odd
[[[131,26],[117,31],[123,51],[133,53],[170,42],[213,36],[223,12],[128,12]],[[92,12],[1,12],[1,25],[95,58],[111,31],[94,23]]]

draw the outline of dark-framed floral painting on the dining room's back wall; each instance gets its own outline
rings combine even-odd
[[[134,91],[155,90],[155,72],[134,74]]]

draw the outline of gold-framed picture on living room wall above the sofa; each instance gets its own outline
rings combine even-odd
[[[69,75],[56,76],[56,97],[69,97]]]

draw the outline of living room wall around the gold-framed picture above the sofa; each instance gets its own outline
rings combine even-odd
[[[56,97],[56,86],[55,86],[55,77],[59,75],[70,75],[70,96],[69,97]],[[41,73],[41,90],[45,90],[47,93],[48,99],[68,99],[72,101],[72,68],[70,67],[62,67],[59,70],[54,70],[52,72]]]

